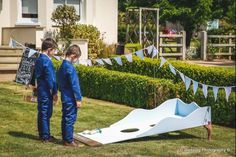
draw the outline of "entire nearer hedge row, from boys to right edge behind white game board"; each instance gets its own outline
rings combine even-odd
[[[59,63],[55,64],[57,69]],[[185,91],[185,85],[166,79],[154,79],[131,73],[122,73],[99,67],[77,66],[82,95],[90,98],[112,101],[139,108],[154,108],[162,102],[179,97],[186,103],[195,101],[200,106],[212,107],[213,123],[235,126],[235,93],[229,102],[224,91],[219,91],[215,102],[209,90],[207,99],[199,89],[193,95],[192,89]],[[190,87],[192,88],[192,87]]]

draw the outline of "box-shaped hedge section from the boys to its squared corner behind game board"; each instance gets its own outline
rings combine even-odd
[[[60,62],[54,62],[58,70]],[[171,80],[110,71],[99,67],[76,66],[82,95],[133,107],[153,108],[176,96]],[[154,93],[154,91],[156,91]],[[154,95],[156,100],[154,100]]]

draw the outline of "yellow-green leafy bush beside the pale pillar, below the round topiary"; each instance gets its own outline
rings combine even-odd
[[[97,58],[105,48],[100,31],[92,25],[78,24],[73,27],[73,38],[88,39],[89,58]]]

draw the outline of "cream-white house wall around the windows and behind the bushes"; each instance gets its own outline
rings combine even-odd
[[[104,34],[104,41],[107,44],[117,43],[118,0],[81,1],[83,9],[80,22],[97,27],[101,34]],[[19,10],[21,0],[3,0],[2,2],[2,11],[0,11],[0,45],[3,44],[3,27],[30,26],[28,24],[22,24],[19,21],[18,16],[20,16],[19,14],[21,12],[21,10]],[[53,0],[38,0],[38,23],[35,25],[41,28],[43,27],[47,31],[53,30],[53,23],[51,21],[53,9]],[[30,27],[32,27],[32,25]]]

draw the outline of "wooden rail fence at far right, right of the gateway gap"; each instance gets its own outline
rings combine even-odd
[[[229,60],[235,55],[235,35],[207,35],[201,32],[201,58],[207,60],[209,56],[228,56]]]

